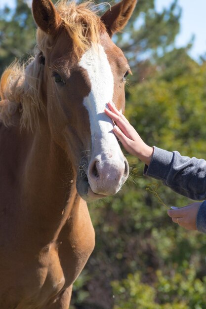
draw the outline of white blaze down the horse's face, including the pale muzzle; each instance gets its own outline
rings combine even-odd
[[[93,193],[114,194],[126,179],[124,155],[113,133],[113,121],[104,113],[113,99],[114,78],[104,48],[91,45],[79,64],[86,70],[91,91],[83,99],[91,130],[91,158],[87,178]]]

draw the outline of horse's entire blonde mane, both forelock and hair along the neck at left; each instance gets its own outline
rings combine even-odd
[[[99,42],[100,33],[105,30],[96,14],[97,7],[90,1],[77,5],[73,1],[60,0],[56,4],[78,58],[91,42]],[[38,28],[36,57],[27,65],[15,62],[4,71],[0,81],[0,121],[5,126],[13,124],[12,116],[19,110],[21,127],[28,130],[39,127],[40,113],[45,113],[41,91],[44,65],[40,56],[50,47],[49,36]]]

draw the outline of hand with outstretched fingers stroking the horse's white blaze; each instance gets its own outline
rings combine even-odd
[[[149,165],[153,155],[153,148],[144,143],[122,112],[118,111],[114,103],[109,102],[108,107],[109,109],[105,108],[105,114],[115,121],[114,133],[125,150]]]

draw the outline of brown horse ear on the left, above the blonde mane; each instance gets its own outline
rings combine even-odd
[[[50,0],[33,0],[34,20],[45,33],[54,35],[59,29],[62,19]]]

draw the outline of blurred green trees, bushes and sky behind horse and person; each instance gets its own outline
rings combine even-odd
[[[33,53],[30,6],[0,2],[0,74]],[[139,0],[114,37],[133,73],[125,88],[132,125],[149,145],[198,158],[206,158],[205,12],[205,0]],[[143,164],[125,155],[130,177],[122,191],[88,205],[96,246],[70,308],[206,309],[206,235],[166,214],[191,201],[143,177]]]

